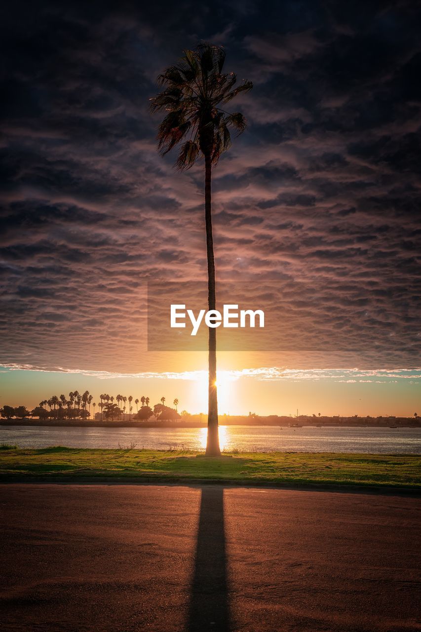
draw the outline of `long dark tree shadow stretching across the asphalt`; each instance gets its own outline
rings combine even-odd
[[[223,487],[202,487],[188,632],[229,632]]]

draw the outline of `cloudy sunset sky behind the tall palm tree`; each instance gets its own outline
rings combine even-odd
[[[149,99],[207,40],[254,85],[213,173],[217,280],[278,292],[265,344],[219,353],[221,411],[421,408],[418,3],[1,11],[0,404],[88,388],[205,411],[206,353],[148,348],[147,286],[206,278],[203,164],[157,153]]]

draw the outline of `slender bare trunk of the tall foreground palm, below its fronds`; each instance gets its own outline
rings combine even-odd
[[[212,163],[210,155],[205,155],[205,224],[207,252],[207,302],[209,310],[216,309],[215,260],[212,239]],[[209,327],[209,407],[207,413],[206,456],[220,456],[218,433],[218,402],[216,394],[216,328]]]

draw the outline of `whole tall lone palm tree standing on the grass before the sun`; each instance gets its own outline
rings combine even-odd
[[[238,87],[235,73],[222,72],[225,52],[219,46],[198,44],[175,66],[159,75],[164,90],[150,99],[152,112],[166,112],[158,130],[158,149],[167,154],[181,140],[176,166],[190,169],[196,159],[205,159],[205,226],[209,310],[216,308],[215,262],[212,239],[211,178],[221,154],[231,145],[229,127],[241,134],[247,122],[241,112],[221,109],[240,92],[248,92],[252,82]],[[218,409],[216,393],[216,329],[209,327],[209,410],[207,422],[207,456],[219,456]]]

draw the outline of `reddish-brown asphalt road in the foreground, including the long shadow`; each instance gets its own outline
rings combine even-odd
[[[0,630],[419,630],[419,518],[399,496],[0,485]]]

